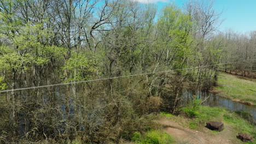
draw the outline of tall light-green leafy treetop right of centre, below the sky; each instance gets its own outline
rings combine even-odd
[[[166,49],[170,49],[170,57],[173,57],[174,67],[185,67],[184,58],[191,58],[199,55],[194,50],[194,38],[192,31],[194,23],[190,21],[189,15],[176,7],[176,5],[166,5],[162,9],[162,15],[158,20],[158,29],[161,33],[161,39],[166,42]],[[160,45],[162,49],[163,45]]]

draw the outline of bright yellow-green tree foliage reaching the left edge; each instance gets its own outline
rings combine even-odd
[[[50,59],[61,58],[65,49],[39,42],[38,39],[50,37],[50,33],[38,31],[42,25],[31,26],[30,23],[20,30],[19,35],[7,35],[12,45],[0,46],[0,69],[22,69],[26,70],[33,65],[45,65]]]

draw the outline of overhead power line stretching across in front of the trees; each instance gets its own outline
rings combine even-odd
[[[237,62],[229,62],[229,63],[220,63],[220,64],[204,65],[204,66],[201,66],[201,67],[191,67],[191,68],[172,69],[172,70],[156,71],[156,72],[142,73],[142,74],[115,76],[115,77],[107,77],[107,78],[103,78],[103,79],[94,79],[94,80],[86,80],[86,81],[74,81],[74,82],[67,82],[67,83],[57,83],[57,84],[53,84],[53,85],[45,85],[45,86],[37,86],[37,87],[25,87],[25,88],[8,89],[8,90],[0,91],[0,93],[4,93],[4,92],[13,92],[13,91],[21,91],[21,90],[26,90],[26,89],[43,88],[43,87],[62,86],[62,85],[69,85],[69,84],[83,83],[83,82],[92,82],[92,81],[102,81],[102,80],[110,80],[110,79],[119,79],[119,78],[123,78],[123,77],[132,77],[132,76],[139,76],[139,75],[149,75],[149,74],[167,73],[167,72],[170,72],[170,71],[177,71],[177,70],[188,70],[188,69],[206,68],[206,67],[212,67],[212,66],[215,66],[215,65],[224,65],[224,64],[240,63],[240,62],[247,62],[247,61],[254,61],[254,60],[252,59],[252,60],[246,60],[246,61],[237,61]]]

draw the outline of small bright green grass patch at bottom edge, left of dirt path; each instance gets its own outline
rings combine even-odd
[[[143,136],[141,135],[141,133],[135,132],[132,134],[132,141],[135,141],[136,144],[174,143],[171,135],[159,130],[150,130]]]

